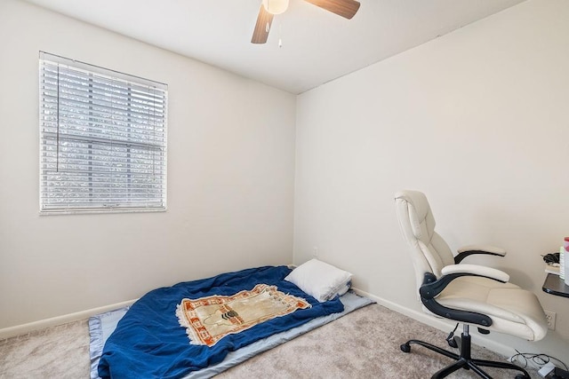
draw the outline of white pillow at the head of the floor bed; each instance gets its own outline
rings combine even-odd
[[[317,259],[298,266],[284,280],[301,288],[320,303],[336,295],[343,295],[349,288],[352,274]],[[340,294],[342,292],[342,294]]]

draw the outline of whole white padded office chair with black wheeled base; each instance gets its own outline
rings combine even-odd
[[[548,330],[541,304],[532,292],[509,283],[506,272],[481,265],[461,264],[472,254],[505,256],[503,249],[488,246],[469,246],[453,257],[446,242],[435,232],[435,218],[424,193],[402,191],[395,196],[397,217],[405,241],[410,247],[417,287],[425,312],[463,324],[461,337],[453,333],[447,342],[459,348],[459,354],[433,344],[410,340],[401,350],[411,351],[419,344],[446,357],[455,359],[432,378],[443,378],[460,368],[471,369],[483,378],[492,378],[480,367],[501,367],[521,371],[516,376],[530,378],[521,367],[508,362],[473,359],[470,356],[469,326],[487,334],[496,331],[529,341],[538,341]]]

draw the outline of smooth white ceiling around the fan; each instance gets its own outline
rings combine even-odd
[[[250,42],[261,0],[26,1],[301,93],[525,0],[360,0],[352,20],[291,0],[266,44]]]

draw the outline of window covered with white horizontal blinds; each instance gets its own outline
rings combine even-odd
[[[167,91],[40,51],[40,212],[165,210]]]

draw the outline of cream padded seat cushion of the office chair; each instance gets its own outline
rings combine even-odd
[[[457,278],[437,296],[437,302],[486,314],[493,322],[487,329],[526,340],[540,340],[548,330],[537,296],[512,283],[475,276]]]

